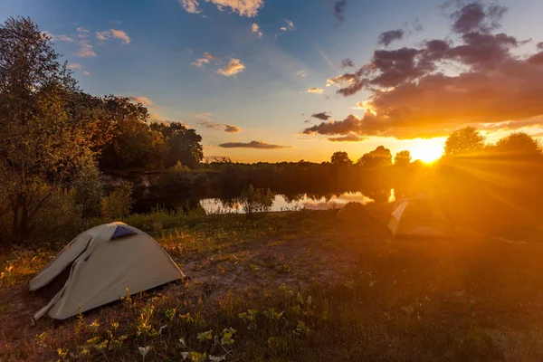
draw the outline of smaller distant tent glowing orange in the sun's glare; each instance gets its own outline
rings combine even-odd
[[[394,237],[452,236],[451,223],[428,195],[415,195],[398,200],[388,228]]]

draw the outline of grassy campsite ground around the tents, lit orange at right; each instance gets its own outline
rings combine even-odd
[[[373,210],[385,223],[389,210]],[[64,322],[0,258],[0,360],[540,361],[543,243],[392,240],[335,212],[133,216],[189,277]],[[147,353],[147,354],[146,354]]]

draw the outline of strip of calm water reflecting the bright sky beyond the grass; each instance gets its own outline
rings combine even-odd
[[[395,195],[394,190],[391,190],[388,202],[394,202]],[[345,193],[341,195],[332,195],[329,198],[321,197],[314,198],[308,195],[303,195],[299,200],[288,201],[283,195],[276,195],[271,211],[290,211],[300,210],[303,208],[310,210],[329,210],[340,209],[344,205],[355,202],[362,205],[373,203],[374,200],[363,195],[360,192]],[[230,205],[224,205],[218,198],[206,198],[200,201],[200,205],[205,209],[206,214],[226,214],[226,213],[240,213],[243,214],[242,206],[236,203]]]

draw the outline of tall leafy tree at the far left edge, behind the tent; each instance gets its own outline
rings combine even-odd
[[[29,18],[0,25],[0,188],[15,242],[81,163],[91,158],[90,135],[68,104],[77,92],[51,39]]]

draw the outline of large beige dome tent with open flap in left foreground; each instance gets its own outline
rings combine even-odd
[[[67,319],[127,293],[184,278],[167,252],[147,233],[123,223],[103,224],[78,235],[29,283],[30,291],[62,289],[33,319]]]

